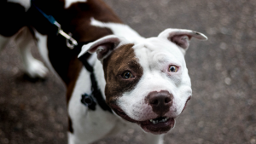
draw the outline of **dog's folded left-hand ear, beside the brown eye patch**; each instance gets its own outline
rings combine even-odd
[[[102,37],[96,40],[95,42],[91,42],[83,45],[82,50],[79,54],[79,57],[84,55],[86,52],[89,52],[89,53],[96,52],[97,58],[99,60],[103,60],[104,58],[106,58],[108,55],[111,54],[113,49],[115,49],[120,42],[121,42],[121,38],[114,35]]]

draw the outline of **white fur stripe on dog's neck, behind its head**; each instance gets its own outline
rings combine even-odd
[[[124,24],[113,22],[105,23],[91,18],[90,25],[108,28],[113,32],[114,35],[118,37],[125,37],[129,43],[141,43],[145,39],[144,37],[141,37],[137,32],[132,30],[130,26]]]

